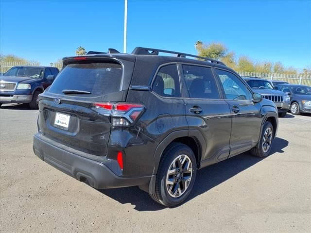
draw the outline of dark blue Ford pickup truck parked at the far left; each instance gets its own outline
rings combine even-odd
[[[29,103],[38,108],[38,95],[50,86],[58,74],[56,67],[12,67],[0,78],[0,106],[2,103]]]

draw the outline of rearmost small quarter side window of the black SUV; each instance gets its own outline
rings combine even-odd
[[[152,84],[152,90],[163,97],[180,97],[180,84],[177,65],[161,67]]]

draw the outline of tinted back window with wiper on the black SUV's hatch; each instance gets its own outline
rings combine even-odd
[[[85,97],[96,97],[117,92],[120,89],[122,68],[115,63],[69,64],[58,74],[50,92],[63,94],[63,90],[90,92]]]

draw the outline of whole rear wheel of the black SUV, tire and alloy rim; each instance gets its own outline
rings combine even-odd
[[[193,151],[182,143],[171,144],[163,152],[155,179],[155,194],[150,194],[151,198],[168,207],[182,203],[193,188],[196,172]]]

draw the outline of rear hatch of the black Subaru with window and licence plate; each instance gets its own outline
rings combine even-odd
[[[104,156],[110,113],[95,103],[125,101],[134,62],[107,57],[75,57],[39,99],[39,131],[70,148]]]

